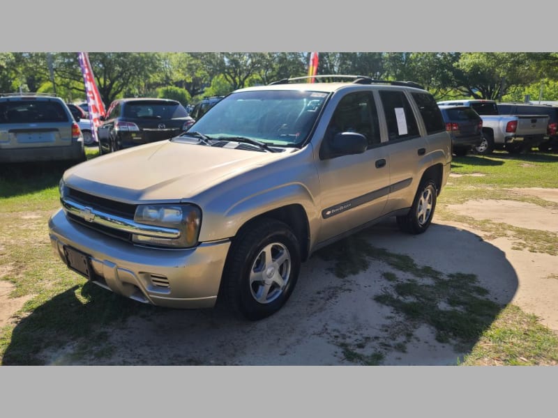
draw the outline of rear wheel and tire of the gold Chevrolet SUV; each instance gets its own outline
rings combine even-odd
[[[437,189],[434,180],[423,180],[418,186],[409,213],[397,217],[397,223],[401,231],[412,234],[426,231],[434,216],[436,199]]]

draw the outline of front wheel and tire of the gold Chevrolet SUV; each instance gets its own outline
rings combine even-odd
[[[289,299],[301,265],[299,240],[283,222],[259,219],[232,242],[220,297],[235,315],[259,320]]]

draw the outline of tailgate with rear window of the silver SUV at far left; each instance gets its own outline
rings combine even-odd
[[[0,102],[0,147],[43,148],[72,144],[65,104],[50,98],[10,98]]]

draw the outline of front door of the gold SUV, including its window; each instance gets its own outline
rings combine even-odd
[[[368,149],[362,154],[317,162],[322,196],[318,243],[382,216],[389,194],[389,157],[386,148],[380,146],[372,92],[348,93],[340,100],[324,141],[335,132],[363,134],[368,139]]]

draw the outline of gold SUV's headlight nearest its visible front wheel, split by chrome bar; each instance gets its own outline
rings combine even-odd
[[[140,205],[135,210],[134,222],[178,229],[180,235],[179,238],[169,239],[134,234],[133,242],[161,247],[193,247],[197,244],[202,224],[202,210],[193,205]]]

